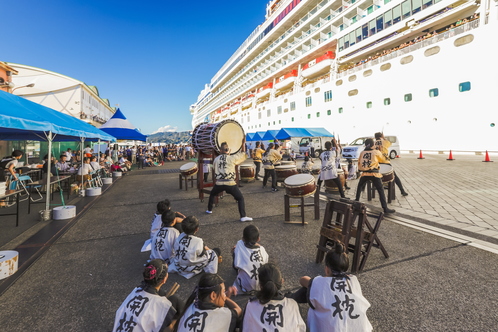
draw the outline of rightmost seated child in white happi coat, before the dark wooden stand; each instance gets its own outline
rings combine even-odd
[[[335,241],[325,256],[325,277],[299,280],[307,289],[304,293],[308,294],[310,305],[310,332],[372,331],[366,315],[370,303],[362,295],[356,276],[346,274],[348,268],[346,248],[342,242]]]

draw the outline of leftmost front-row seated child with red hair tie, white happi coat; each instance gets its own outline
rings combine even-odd
[[[142,285],[135,288],[116,311],[113,332],[173,331],[183,303],[166,298],[161,286],[168,280],[168,265],[161,259],[147,263]]]

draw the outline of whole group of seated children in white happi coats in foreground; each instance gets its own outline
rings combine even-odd
[[[244,332],[305,332],[306,325],[311,332],[372,330],[366,316],[370,303],[362,295],[356,276],[346,273],[349,258],[343,243],[331,243],[325,257],[325,276],[301,277],[301,287],[284,294],[279,268],[268,262],[265,248],[258,243],[258,228],[249,225],[232,249],[237,277],[227,289],[217,274],[219,250],[209,249],[195,236],[199,230],[196,217],[178,215],[169,201],[158,203],[151,225],[152,231],[157,231],[152,235],[151,260],[145,266],[144,281],[117,310],[113,331],[124,331],[130,324],[140,326],[141,331],[179,332],[233,332],[236,328]],[[188,279],[201,271],[205,273],[185,305],[161,290],[169,272]],[[230,299],[238,294],[255,296],[243,310]],[[309,304],[307,323],[298,303]]]

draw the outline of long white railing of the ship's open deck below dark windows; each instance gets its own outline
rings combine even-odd
[[[397,58],[399,56],[406,55],[408,53],[414,52],[414,51],[419,50],[421,48],[424,48],[426,46],[430,46],[430,45],[436,44],[436,43],[438,43],[440,41],[443,41],[445,39],[448,39],[448,38],[454,37],[456,35],[459,35],[459,34],[467,32],[467,31],[470,31],[472,29],[478,28],[479,27],[479,20],[480,19],[475,19],[475,20],[473,20],[471,22],[459,25],[459,26],[457,26],[457,27],[455,27],[455,28],[453,28],[451,30],[445,31],[445,32],[440,33],[438,35],[435,35],[433,37],[430,37],[430,38],[424,39],[422,41],[419,41],[419,42],[417,42],[417,43],[415,43],[413,45],[404,47],[404,48],[402,48],[400,50],[397,50],[397,51],[393,51],[393,52],[391,52],[389,54],[386,54],[386,55],[383,55],[383,56],[381,56],[379,58],[376,58],[376,59],[370,60],[368,62],[365,62],[364,64],[361,64],[359,66],[355,66],[353,68],[344,70],[344,71],[342,71],[340,73],[337,73],[337,78],[341,78],[341,77],[352,75],[352,74],[354,74],[356,72],[362,71],[364,69],[370,68],[370,67],[378,65],[380,63],[383,63],[383,62],[386,62],[386,61],[390,61],[390,60],[392,60],[394,58]]]

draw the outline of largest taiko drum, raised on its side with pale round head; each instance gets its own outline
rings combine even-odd
[[[242,148],[244,137],[244,129],[234,120],[201,123],[192,132],[192,144],[197,151],[211,154],[213,150],[220,153],[221,143],[226,142],[230,154],[235,154]]]

